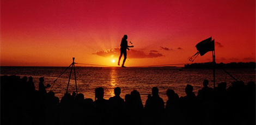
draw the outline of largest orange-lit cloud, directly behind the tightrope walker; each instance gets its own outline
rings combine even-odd
[[[119,57],[120,55],[120,49],[114,48],[114,49],[108,49],[107,51],[98,51],[96,53],[93,53],[96,55],[99,55],[101,57]],[[127,58],[157,58],[157,57],[163,57],[161,53],[158,53],[157,51],[150,53],[145,53],[141,50],[136,49],[130,49],[130,51],[127,51]]]

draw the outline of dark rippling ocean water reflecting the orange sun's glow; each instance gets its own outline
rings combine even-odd
[[[36,90],[38,90],[39,78],[45,77],[45,85],[50,84],[52,91],[56,96],[62,98],[68,85],[69,68],[57,81],[53,81],[62,73],[66,67],[1,67],[1,76],[32,76]],[[242,80],[247,84],[249,81],[255,82],[254,69],[227,69],[236,79]],[[194,87],[194,93],[202,89],[203,80],[209,80],[209,86],[213,87],[213,76],[211,69],[187,69],[187,68],[169,68],[169,67],[76,67],[76,79],[78,93],[83,93],[85,98],[94,99],[94,90],[96,87],[103,87],[105,99],[114,96],[114,88],[121,88],[121,97],[137,90],[141,93],[143,104],[151,93],[152,87],[159,88],[159,95],[164,102],[167,101],[167,89],[173,89],[179,96],[185,96],[185,87],[190,84]],[[221,69],[216,70],[216,83],[227,82],[230,86],[234,79],[228,76]],[[47,91],[50,91],[47,88]],[[74,71],[72,71],[70,93],[76,91]]]

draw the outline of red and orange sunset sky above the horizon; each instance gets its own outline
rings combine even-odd
[[[210,36],[217,63],[255,61],[255,0],[1,0],[1,66],[117,66],[124,34],[125,66],[190,63]]]

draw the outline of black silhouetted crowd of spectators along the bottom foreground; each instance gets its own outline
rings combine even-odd
[[[159,89],[152,88],[145,106],[141,95],[133,90],[120,97],[104,98],[102,87],[95,89],[96,101],[82,93],[65,93],[60,99],[47,93],[44,78],[35,90],[32,77],[1,76],[1,124],[253,124],[255,125],[255,83],[219,83],[216,88],[203,88],[196,96],[187,84],[186,96],[166,91],[164,106]]]

